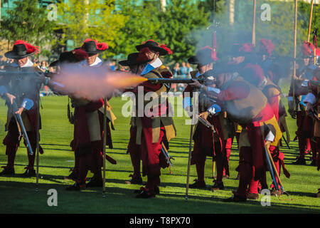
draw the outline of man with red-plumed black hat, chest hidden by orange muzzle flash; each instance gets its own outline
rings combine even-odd
[[[102,61],[98,54],[106,51],[107,43],[98,43],[92,39],[86,39],[82,45],[82,50],[87,53],[87,59],[80,62],[80,66],[99,67]],[[72,98],[71,103],[75,108],[74,112],[74,138],[71,147],[75,150],[75,156],[79,157],[78,177],[74,185],[67,187],[66,190],[83,190],[85,187],[102,187],[102,139],[103,132],[103,98],[98,100],[87,100]],[[107,125],[109,126],[109,125]],[[111,141],[108,140],[110,146]],[[115,163],[111,158],[110,162]],[[87,172],[91,170],[94,175],[87,184]]]

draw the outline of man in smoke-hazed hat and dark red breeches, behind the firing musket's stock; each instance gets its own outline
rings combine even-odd
[[[192,78],[202,78],[206,77],[206,72],[213,69],[213,63],[217,61],[215,51],[209,46],[201,48],[197,51],[196,56],[188,58],[188,63],[196,64],[198,71],[191,72]],[[209,76],[210,77],[210,76]],[[212,77],[212,76],[211,76]],[[208,78],[209,79],[209,78]],[[210,85],[214,86],[213,78]],[[194,88],[201,88],[200,83],[195,81],[195,83],[189,84],[183,91],[183,108],[190,112],[192,108],[191,98],[193,97]],[[198,113],[206,111],[212,102],[205,97],[199,97],[198,100]],[[213,157],[217,165],[217,179],[214,180],[215,184],[211,187],[211,190],[223,190],[223,170],[224,167],[228,165],[228,158],[225,151],[226,140],[228,139],[228,128],[225,128],[225,117],[224,115],[212,116],[208,118],[208,122],[215,126],[215,133],[210,128],[206,128],[205,125],[197,123],[195,130],[193,131],[193,151],[191,152],[191,165],[196,165],[196,172],[198,179],[191,185],[190,188],[204,188],[206,187],[206,182],[204,180],[204,170],[206,164],[206,156]]]

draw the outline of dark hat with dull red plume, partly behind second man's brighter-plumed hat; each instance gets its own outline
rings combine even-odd
[[[57,66],[62,63],[78,63],[87,57],[87,53],[82,48],[75,48],[73,51],[60,53],[59,59],[50,63],[49,66]]]

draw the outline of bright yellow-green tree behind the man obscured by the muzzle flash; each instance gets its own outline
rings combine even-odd
[[[58,29],[63,36],[57,44],[65,45],[67,40],[74,47],[81,46],[85,38],[106,42],[114,48],[119,31],[127,22],[127,16],[114,11],[114,0],[69,0],[58,3]],[[102,57],[114,56],[114,52],[106,51]]]

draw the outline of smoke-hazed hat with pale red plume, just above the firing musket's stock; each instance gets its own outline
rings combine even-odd
[[[196,56],[188,58],[188,63],[207,65],[209,63],[214,63],[217,60],[218,58],[213,48],[206,46],[197,51]]]

